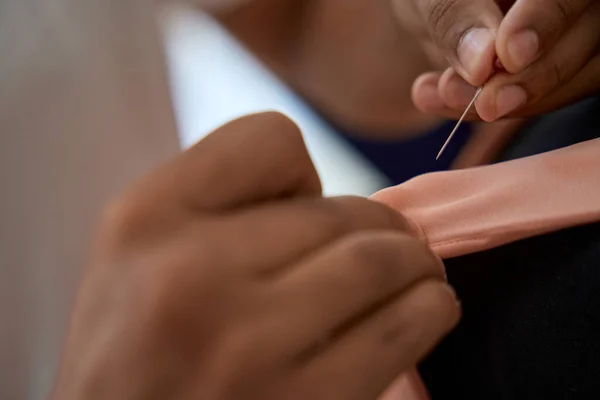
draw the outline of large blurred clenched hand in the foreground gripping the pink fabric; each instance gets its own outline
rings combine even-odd
[[[109,208],[55,399],[373,400],[459,318],[384,205],[321,196],[298,129],[234,121]]]

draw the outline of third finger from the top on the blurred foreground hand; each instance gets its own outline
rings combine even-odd
[[[424,279],[443,281],[445,275],[442,262],[423,243],[396,232],[356,233],[281,277],[274,293],[286,315],[273,319],[293,316],[286,320],[289,350],[305,353]]]

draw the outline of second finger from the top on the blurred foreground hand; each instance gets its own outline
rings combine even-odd
[[[413,228],[399,213],[372,200],[297,198],[221,218],[212,231],[213,236],[225,240],[211,246],[225,259],[223,264],[262,276],[285,269],[342,236],[364,230],[410,233]],[[231,243],[236,246],[235,252],[231,251]]]

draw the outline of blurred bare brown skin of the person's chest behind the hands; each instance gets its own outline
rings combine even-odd
[[[436,64],[397,24],[388,0],[251,0],[217,17],[352,132],[406,137],[438,123],[417,111],[410,95],[414,80]]]

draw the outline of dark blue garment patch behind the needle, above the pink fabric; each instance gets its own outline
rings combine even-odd
[[[386,175],[393,185],[398,185],[417,175],[450,168],[473,130],[471,124],[462,124],[444,154],[436,160],[435,156],[455,124],[449,121],[433,131],[402,140],[364,139],[340,129],[337,132]]]

